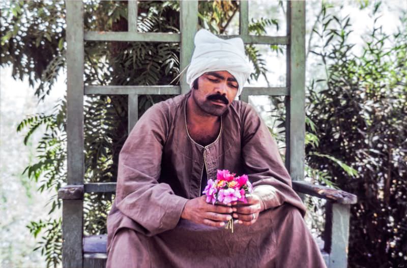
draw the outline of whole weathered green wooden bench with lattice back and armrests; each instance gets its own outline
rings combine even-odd
[[[115,183],[84,184],[83,96],[128,95],[128,129],[136,124],[139,95],[177,95],[189,91],[185,77],[180,85],[84,85],[84,42],[178,42],[180,70],[189,64],[193,37],[197,30],[198,1],[180,1],[180,33],[138,33],[137,2],[128,1],[128,32],[84,32],[82,1],[66,1],[67,39],[67,184],[59,190],[63,199],[63,249],[65,268],[104,267],[106,235],[83,236],[84,193],[112,193]],[[321,250],[327,266],[346,267],[350,205],[355,195],[326,187],[310,185],[304,180],[305,159],[305,3],[287,1],[285,36],[252,36],[249,33],[249,3],[239,4],[239,37],[245,44],[286,46],[286,85],[281,87],[245,87],[240,100],[249,96],[282,96],[286,104],[285,166],[300,193],[327,199],[326,223]]]

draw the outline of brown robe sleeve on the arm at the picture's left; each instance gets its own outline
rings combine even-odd
[[[170,121],[161,104],[153,105],[137,122],[119,155],[116,205],[140,225],[145,235],[175,228],[188,199],[158,183],[163,146]]]

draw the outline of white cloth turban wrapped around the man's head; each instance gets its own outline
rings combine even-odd
[[[204,73],[228,71],[238,81],[239,96],[251,72],[242,39],[225,40],[201,29],[196,33],[194,43],[195,50],[187,71],[187,83],[190,87]]]

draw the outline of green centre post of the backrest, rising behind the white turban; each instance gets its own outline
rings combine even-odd
[[[180,72],[189,65],[194,50],[194,36],[198,29],[198,1],[180,1]],[[187,93],[190,88],[186,82],[186,70],[181,75],[181,94]]]

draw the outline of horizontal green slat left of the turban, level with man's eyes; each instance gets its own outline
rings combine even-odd
[[[85,94],[96,95],[178,95],[178,85],[86,85]]]

